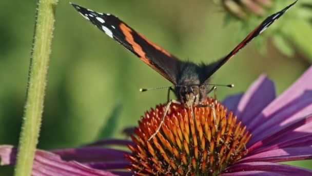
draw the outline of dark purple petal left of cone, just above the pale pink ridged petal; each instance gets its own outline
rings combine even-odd
[[[68,149],[50,150],[62,157],[63,160],[75,160],[82,163],[104,162],[104,161],[125,161],[124,154],[131,154],[127,151],[109,149],[103,147],[81,147]]]

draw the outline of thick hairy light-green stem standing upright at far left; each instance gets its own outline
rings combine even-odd
[[[37,0],[27,97],[14,175],[31,175],[40,133],[57,0]]]

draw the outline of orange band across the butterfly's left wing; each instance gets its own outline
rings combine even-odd
[[[136,52],[136,54],[138,54],[141,57],[141,59],[144,60],[144,62],[149,63],[148,59],[145,58],[145,52],[143,51],[142,47],[134,41],[133,36],[131,34],[132,30],[124,23],[121,23],[119,27],[122,30],[123,34],[125,35],[126,41],[130,43],[130,45],[132,45],[132,48]]]

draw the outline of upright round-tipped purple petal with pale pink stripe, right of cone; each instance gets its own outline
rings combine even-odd
[[[248,122],[260,114],[260,112],[275,99],[274,83],[265,75],[261,75],[255,82],[253,82],[247,92],[240,100],[237,108],[238,120],[242,120],[243,124]]]

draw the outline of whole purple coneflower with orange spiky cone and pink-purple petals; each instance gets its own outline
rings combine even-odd
[[[147,140],[162,117],[159,105],[141,117],[132,142],[105,139],[37,150],[33,175],[312,175],[277,163],[312,159],[311,78],[312,67],[276,98],[274,83],[260,76],[245,94],[215,105],[218,129],[209,108],[195,107],[193,119],[189,109],[174,104],[161,131]],[[131,152],[103,145],[128,146]],[[1,164],[14,164],[15,154],[12,146],[0,146]]]

